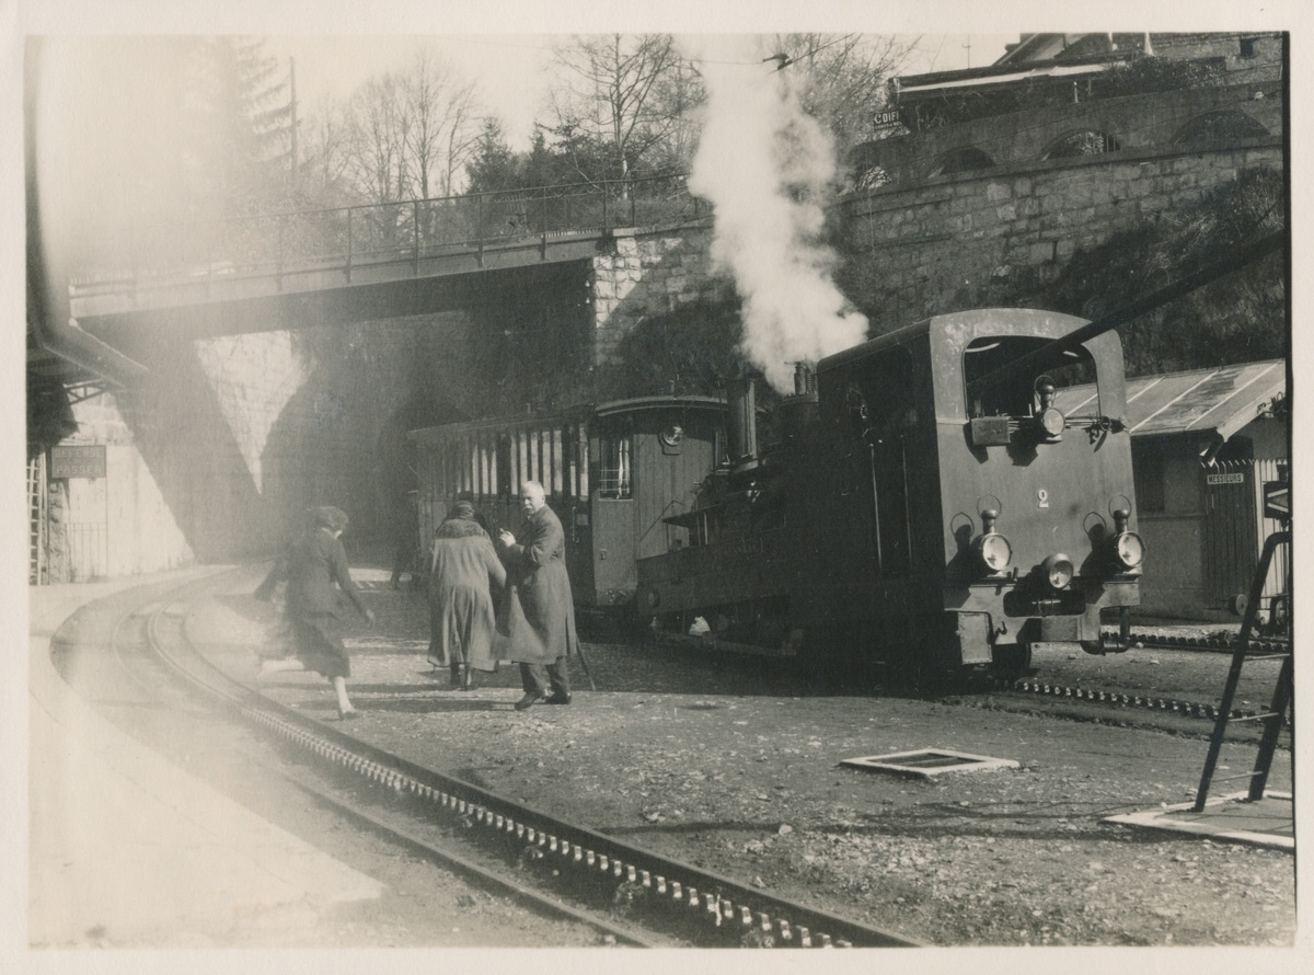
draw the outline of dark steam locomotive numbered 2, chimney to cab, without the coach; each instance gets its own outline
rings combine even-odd
[[[916,671],[1037,644],[1091,653],[1139,602],[1122,348],[1083,319],[984,309],[800,365],[759,448],[752,381],[729,390],[728,464],[687,544],[637,560],[636,611],[817,662]]]

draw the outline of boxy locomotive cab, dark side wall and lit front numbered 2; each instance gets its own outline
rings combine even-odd
[[[917,671],[1106,649],[1144,547],[1121,344],[1083,325],[962,311],[819,364],[808,629]]]

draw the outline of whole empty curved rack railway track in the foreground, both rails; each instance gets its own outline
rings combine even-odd
[[[213,583],[213,578],[208,581]],[[540,911],[589,924],[608,943],[757,947],[920,943],[565,823],[373,748],[269,700],[196,653],[187,632],[188,601],[204,591],[205,585],[191,583],[134,614],[151,653],[189,687],[304,760],[309,774],[301,777],[300,787],[413,853],[445,863]],[[438,834],[444,834],[451,845],[440,844]]]

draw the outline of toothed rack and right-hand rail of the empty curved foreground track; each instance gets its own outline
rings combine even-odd
[[[160,620],[179,620],[185,633],[185,604],[155,614],[147,631],[160,636]],[[664,905],[698,921],[724,943],[777,947],[908,947],[922,942],[861,921],[775,897],[727,876],[632,846],[556,819],[489,790],[444,775],[394,756],[323,723],[297,714],[234,681],[200,654],[192,653],[204,675],[171,661],[180,675],[223,700],[230,708],[275,736],[347,770],[367,783],[389,788],[424,815],[436,813],[453,825],[522,848],[522,855],[574,871],[579,879],[614,888],[618,896]]]

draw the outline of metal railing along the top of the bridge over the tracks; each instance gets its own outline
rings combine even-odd
[[[84,255],[76,290],[205,283],[331,272],[351,281],[367,269],[473,256],[510,247],[543,250],[574,234],[677,225],[710,205],[689,192],[686,173],[604,180],[428,200],[230,217],[135,230]]]

